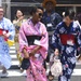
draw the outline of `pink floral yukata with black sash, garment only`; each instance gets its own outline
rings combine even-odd
[[[46,72],[43,67],[43,60],[46,58],[49,37],[45,26],[38,22],[35,26],[29,18],[25,22],[19,30],[19,51],[22,52],[25,48],[28,53],[31,52],[37,45],[28,45],[26,36],[42,36],[39,45],[41,49],[37,52],[37,56],[29,57],[30,67],[27,69],[27,81],[48,81]]]

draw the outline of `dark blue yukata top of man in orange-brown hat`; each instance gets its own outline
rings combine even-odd
[[[52,11],[51,15],[48,15],[48,12],[45,11],[41,19],[41,22],[45,25],[48,31],[54,31],[56,29],[56,25],[62,21],[62,16],[54,11]]]

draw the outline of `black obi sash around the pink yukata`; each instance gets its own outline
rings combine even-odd
[[[28,45],[35,45],[35,40],[39,40],[42,38],[42,36],[26,36]]]

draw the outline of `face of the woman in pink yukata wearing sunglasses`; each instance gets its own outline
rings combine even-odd
[[[32,18],[35,22],[40,22],[43,15],[43,11],[41,9],[37,9],[37,12],[32,14]]]

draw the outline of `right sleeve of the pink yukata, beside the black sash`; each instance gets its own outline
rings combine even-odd
[[[40,41],[40,45],[41,45],[40,53],[42,54],[42,57],[45,59],[49,49],[49,35],[44,25],[42,25],[42,38]]]

